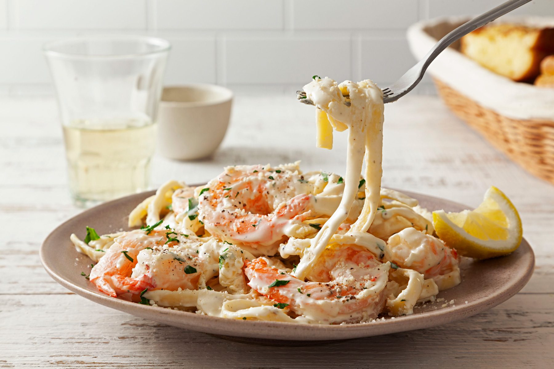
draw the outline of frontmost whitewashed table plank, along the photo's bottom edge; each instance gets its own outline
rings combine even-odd
[[[551,294],[519,294],[485,313],[435,328],[292,347],[223,340],[77,295],[8,298],[12,303],[0,306],[0,314],[7,331],[17,333],[0,337],[0,367],[520,369],[546,368],[541,365],[554,360]],[[37,318],[22,326],[21,315]]]

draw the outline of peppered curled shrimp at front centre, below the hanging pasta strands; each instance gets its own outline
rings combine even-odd
[[[375,319],[386,302],[388,263],[355,245],[327,247],[304,282],[260,257],[246,262],[248,285],[278,306],[320,323]]]

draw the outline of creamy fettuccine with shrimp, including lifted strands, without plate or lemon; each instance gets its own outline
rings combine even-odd
[[[381,90],[317,76],[304,90],[319,147],[348,130],[344,177],[296,162],[227,167],[202,186],[168,181],[131,211],[140,229],[71,235],[97,262],[90,282],[145,305],[299,324],[409,315],[459,284],[458,255],[429,211],[381,188]]]

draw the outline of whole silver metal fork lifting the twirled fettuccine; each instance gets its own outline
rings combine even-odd
[[[504,4],[497,6],[496,8],[479,15],[469,22],[466,22],[460,27],[452,30],[449,34],[445,35],[438,43],[433,46],[431,50],[420,60],[416,65],[411,67],[400,79],[394,82],[391,86],[386,87],[383,90],[383,102],[393,102],[406,95],[406,93],[413,90],[417,86],[419,81],[423,78],[423,74],[427,70],[427,67],[437,56],[446,49],[454,41],[460,39],[462,36],[470,33],[471,31],[482,27],[483,25],[495,20],[496,18],[511,12],[512,10],[519,8],[523,4],[530,2],[531,0],[510,0]],[[297,98],[308,105],[314,105],[308,98],[304,91],[296,91]],[[346,97],[346,96],[345,96]],[[346,101],[345,105],[350,106],[350,101]]]

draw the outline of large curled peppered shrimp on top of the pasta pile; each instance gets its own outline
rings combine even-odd
[[[316,216],[313,185],[297,171],[239,165],[206,185],[199,196],[199,220],[212,235],[239,243],[260,256],[275,254],[279,243],[294,226],[306,234],[314,228],[302,225]]]

